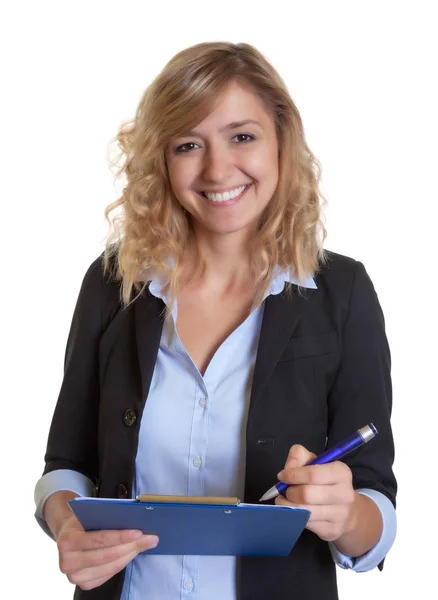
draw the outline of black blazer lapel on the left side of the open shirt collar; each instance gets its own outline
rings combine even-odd
[[[146,400],[160,346],[165,304],[145,290],[134,302],[135,337],[141,373],[142,399]]]

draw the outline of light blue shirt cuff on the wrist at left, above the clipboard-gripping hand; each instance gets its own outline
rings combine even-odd
[[[91,479],[70,469],[57,469],[56,471],[50,471],[41,477],[35,486],[34,499],[35,499],[35,518],[38,521],[40,527],[49,535],[52,539],[53,534],[50,531],[46,521],[44,520],[44,506],[47,500],[55,492],[66,491],[74,492],[79,496],[94,496],[95,487]]]

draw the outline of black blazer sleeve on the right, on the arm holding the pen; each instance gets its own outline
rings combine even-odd
[[[355,489],[377,490],[395,507],[391,357],[377,294],[360,262],[355,264],[341,338],[340,367],[328,397],[327,445],[372,422],[378,435],[345,462]]]

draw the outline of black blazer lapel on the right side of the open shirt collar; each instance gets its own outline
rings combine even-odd
[[[265,300],[254,367],[249,416],[301,319],[305,302],[306,296],[300,295],[295,285],[293,285],[292,293],[283,291],[281,294],[268,296]]]

